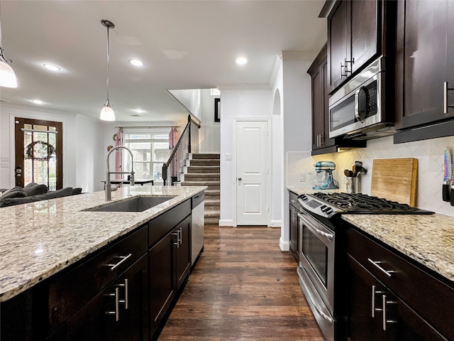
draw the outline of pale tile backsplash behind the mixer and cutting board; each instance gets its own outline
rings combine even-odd
[[[443,152],[445,148],[454,152],[454,136],[423,141],[393,144],[392,136],[367,141],[367,148],[352,151],[311,156],[310,152],[287,152],[287,186],[311,188],[314,184],[314,163],[333,161],[336,171],[334,180],[344,188],[344,169],[352,169],[355,161],[361,161],[367,174],[361,178],[361,193],[370,194],[372,161],[375,158],[417,158],[418,185],[416,206],[445,215],[454,216],[454,207],[441,200],[443,183]]]

